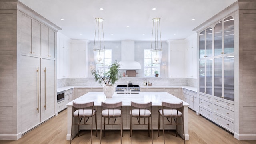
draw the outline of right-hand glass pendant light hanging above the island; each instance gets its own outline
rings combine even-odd
[[[153,64],[161,64],[162,40],[161,40],[161,30],[160,30],[160,18],[153,18],[152,39],[151,39],[151,58],[152,58]]]

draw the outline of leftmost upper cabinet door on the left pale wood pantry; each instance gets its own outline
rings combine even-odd
[[[21,14],[21,52],[31,54],[31,22],[32,19]]]

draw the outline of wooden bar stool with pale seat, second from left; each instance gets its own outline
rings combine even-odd
[[[103,136],[105,136],[105,125],[120,125],[121,126],[121,144],[122,144],[122,136],[123,136],[123,117],[122,117],[122,105],[123,102],[117,103],[105,103],[101,102],[101,118],[100,118],[100,143],[102,136],[102,124],[103,124]],[[121,122],[116,123],[116,118],[120,117]],[[104,122],[102,123],[102,118]],[[106,118],[108,119],[108,123],[106,123]],[[110,118],[113,118],[113,122],[110,122]]]

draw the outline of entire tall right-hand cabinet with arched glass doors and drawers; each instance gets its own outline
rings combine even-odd
[[[238,0],[194,30],[198,33],[199,114],[256,140],[256,1]]]

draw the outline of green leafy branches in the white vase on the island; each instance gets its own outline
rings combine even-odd
[[[95,69],[91,69],[92,75],[94,76],[95,81],[99,82],[99,84],[105,84],[105,85],[113,85],[115,82],[121,78],[120,70],[119,70],[120,64],[115,61],[111,65],[108,66],[109,71],[108,72],[101,72]],[[103,75],[102,75],[103,73]]]

